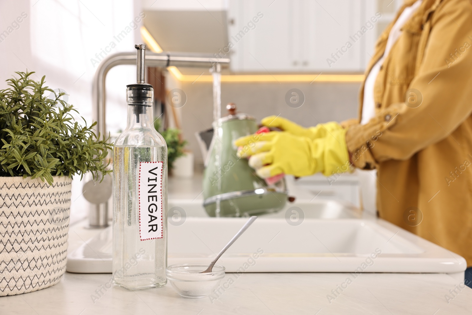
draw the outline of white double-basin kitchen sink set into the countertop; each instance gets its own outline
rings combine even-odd
[[[357,270],[441,272],[457,279],[464,277],[466,262],[463,257],[386,221],[356,218],[358,214],[332,201],[296,206],[305,213],[300,225],[287,223],[286,211],[261,216],[219,263],[227,272]],[[185,204],[180,207],[185,209],[187,218],[179,226],[168,224],[169,265],[210,262],[247,220],[195,217],[190,215],[197,215],[193,211],[198,207],[193,209]],[[201,206],[199,211],[202,211]],[[101,231],[86,243],[69,254],[67,271],[111,272],[111,229]],[[257,256],[257,259],[251,259],[251,256]]]

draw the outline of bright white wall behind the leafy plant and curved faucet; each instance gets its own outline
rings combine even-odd
[[[136,4],[135,4],[136,2]],[[0,89],[15,71],[35,71],[34,79],[46,76],[52,89],[64,89],[88,124],[92,123],[92,79],[97,68],[95,54],[112,42],[110,53],[134,50],[141,43],[139,27],[131,24],[139,16],[140,1],[133,0],[15,0],[0,2]],[[23,18],[17,20],[17,17]],[[21,20],[21,23],[17,21]],[[141,24],[141,23],[140,23]],[[128,27],[128,28],[127,28]],[[135,28],[135,29],[134,29]],[[121,41],[113,36],[127,31]],[[137,43],[137,42],[136,42]],[[105,54],[102,52],[102,57]],[[102,59],[102,58],[100,58]],[[107,125],[110,131],[126,122],[126,84],[135,83],[135,67],[119,66],[107,79]],[[87,209],[82,183],[74,180],[72,215]]]

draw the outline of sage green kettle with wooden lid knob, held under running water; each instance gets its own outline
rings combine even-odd
[[[248,165],[238,158],[234,141],[255,133],[256,120],[236,113],[234,103],[227,105],[228,116],[218,119],[205,161],[203,176],[203,206],[210,216],[239,217],[276,212],[285,206],[285,179],[268,185]]]

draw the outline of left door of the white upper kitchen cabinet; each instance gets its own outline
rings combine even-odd
[[[287,0],[276,0],[270,5],[272,1],[230,1],[228,40],[235,45],[231,49],[233,71],[271,72],[294,69],[294,6]]]

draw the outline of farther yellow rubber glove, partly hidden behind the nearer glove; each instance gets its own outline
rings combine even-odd
[[[329,135],[334,130],[343,129],[336,121],[318,124],[315,127],[304,128],[293,121],[278,116],[269,116],[261,120],[261,124],[267,127],[280,128],[295,136],[306,136],[314,140]]]

